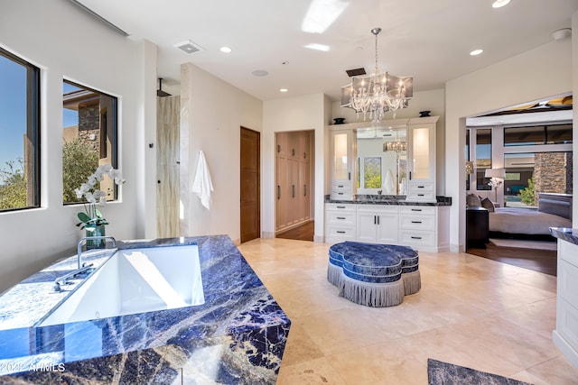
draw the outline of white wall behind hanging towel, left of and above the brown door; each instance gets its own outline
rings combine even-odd
[[[263,103],[186,63],[181,67],[181,106],[182,235],[228,234],[238,242],[240,127],[262,131]],[[210,210],[191,194],[200,150],[205,154],[214,188]],[[261,164],[266,162],[262,159]],[[262,184],[261,189],[265,187]]]

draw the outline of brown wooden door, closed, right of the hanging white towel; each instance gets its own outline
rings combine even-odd
[[[241,127],[241,243],[259,238],[260,222],[260,133]]]

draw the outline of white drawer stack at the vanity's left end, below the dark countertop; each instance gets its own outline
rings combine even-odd
[[[355,241],[355,204],[325,204],[325,242]]]

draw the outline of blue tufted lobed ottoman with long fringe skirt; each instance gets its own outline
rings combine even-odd
[[[341,297],[368,307],[399,305],[422,285],[411,247],[349,241],[330,247],[327,280]]]

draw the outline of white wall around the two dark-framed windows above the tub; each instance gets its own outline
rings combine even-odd
[[[144,235],[137,223],[150,213],[138,215],[146,206],[142,188],[154,180],[154,173],[145,173],[143,167],[148,153],[142,151],[142,141],[151,129],[151,124],[144,122],[144,109],[145,101],[155,98],[156,68],[147,43],[131,41],[103,27],[68,1],[3,2],[0,46],[42,69],[42,207],[0,214],[3,291],[62,252],[74,252],[84,235],[76,227],[76,214],[82,207],[62,206],[63,78],[118,97],[118,164],[126,184],[121,188],[122,201],[108,204],[102,211],[110,222],[107,234],[117,239]],[[154,127],[155,119],[152,124]]]

